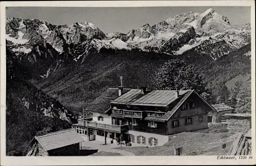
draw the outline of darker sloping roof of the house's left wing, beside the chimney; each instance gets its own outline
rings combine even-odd
[[[131,89],[124,88],[123,94]],[[106,89],[98,98],[90,103],[84,110],[89,112],[105,113],[110,108],[110,102],[118,98],[118,88]]]

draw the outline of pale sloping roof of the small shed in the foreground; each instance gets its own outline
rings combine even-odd
[[[83,141],[82,137],[73,128],[35,136],[34,138],[46,151]]]

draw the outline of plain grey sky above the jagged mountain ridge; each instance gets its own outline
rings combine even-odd
[[[104,33],[128,33],[146,23],[152,26],[180,13],[203,13],[208,8],[232,23],[250,22],[250,7],[8,7],[6,17],[37,18],[53,25],[88,21]]]

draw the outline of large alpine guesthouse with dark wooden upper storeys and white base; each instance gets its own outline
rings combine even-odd
[[[120,139],[132,141],[134,144],[156,146],[166,143],[168,135],[207,130],[207,113],[215,111],[194,90],[126,89],[124,94],[120,91],[116,93],[120,96],[114,95],[113,88],[106,90],[104,95],[101,95],[102,99],[97,98],[93,106],[90,106],[93,112],[92,120],[78,120],[78,124],[74,126],[93,130],[96,140],[101,140],[100,136],[104,136],[105,144],[108,136],[113,140],[113,135],[123,135]],[[110,99],[108,105],[104,104],[107,110],[96,107],[97,103],[105,101],[106,98]],[[102,121],[98,121],[99,119]],[[102,130],[104,135],[96,133],[95,130]]]

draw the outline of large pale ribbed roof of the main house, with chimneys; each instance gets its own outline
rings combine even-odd
[[[182,96],[188,91],[189,90],[180,90],[179,94]],[[152,90],[146,94],[142,94],[141,89],[131,89],[111,103],[164,107],[176,99],[175,90]]]

